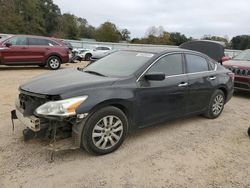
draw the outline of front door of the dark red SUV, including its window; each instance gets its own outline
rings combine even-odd
[[[6,47],[1,51],[4,64],[8,65],[29,63],[29,46],[27,37],[14,36],[6,42],[11,43],[12,45],[10,47]]]

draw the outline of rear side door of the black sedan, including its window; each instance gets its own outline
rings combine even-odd
[[[187,108],[189,113],[196,113],[209,104],[216,85],[216,72],[203,56],[186,53],[185,60],[189,82]]]

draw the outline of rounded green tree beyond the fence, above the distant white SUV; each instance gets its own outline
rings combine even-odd
[[[101,42],[119,42],[121,39],[121,33],[115,24],[105,22],[97,28],[95,38],[97,41]]]

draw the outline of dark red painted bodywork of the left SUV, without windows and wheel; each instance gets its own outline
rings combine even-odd
[[[27,38],[25,45],[12,45],[6,47],[5,44],[15,37]],[[49,45],[30,45],[29,39],[52,41],[55,46]],[[69,50],[62,41],[40,36],[13,35],[5,38],[0,43],[0,64],[2,65],[39,65],[45,64],[51,56],[57,56],[62,63],[69,61]]]

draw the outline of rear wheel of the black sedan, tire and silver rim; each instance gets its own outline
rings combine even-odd
[[[218,100],[222,101],[219,102]],[[218,106],[215,106],[216,104],[218,104]],[[224,109],[224,105],[225,105],[225,94],[223,93],[222,90],[218,89],[212,95],[207,112],[204,114],[204,116],[209,119],[215,119],[219,117]]]

